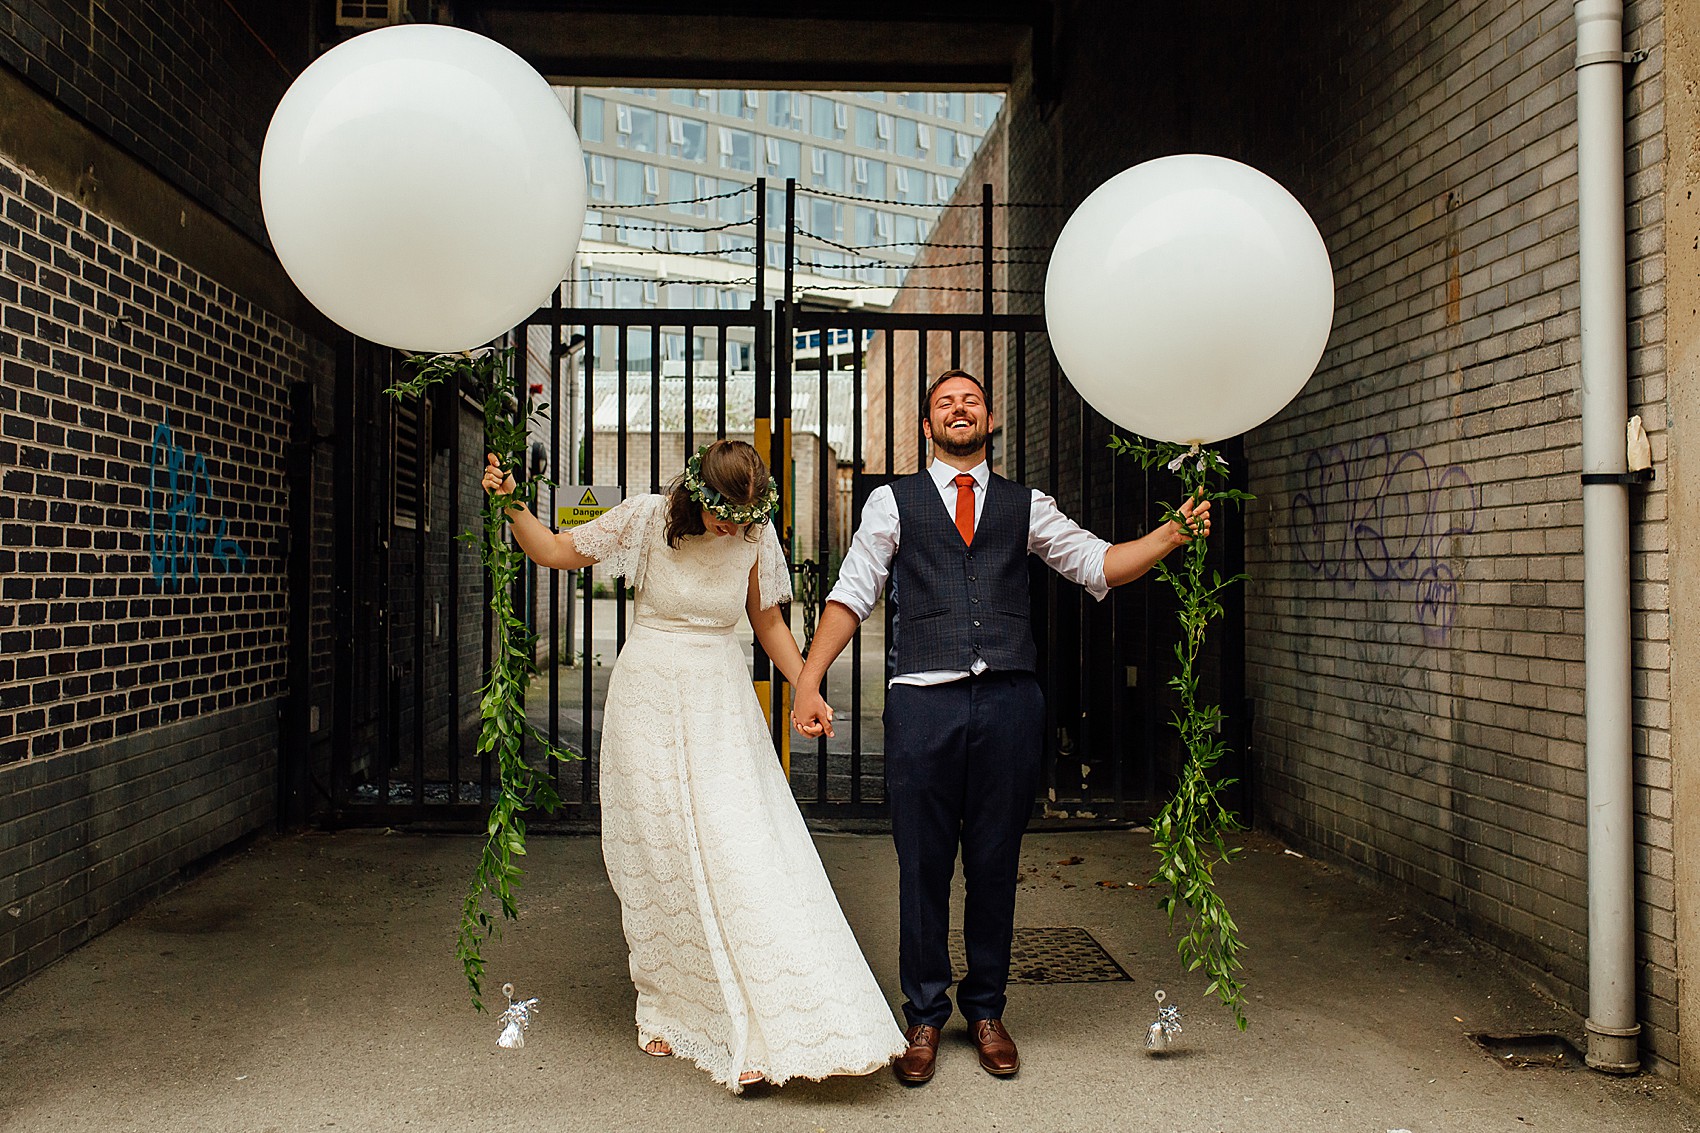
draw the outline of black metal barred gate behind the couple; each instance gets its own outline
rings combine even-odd
[[[998,418],[996,471],[1047,492],[1107,539],[1142,534],[1158,514],[1154,493],[1171,493],[1176,483],[1110,456],[1112,425],[1080,405],[1064,381],[1042,316],[994,313],[989,189],[983,202],[979,311],[828,310],[787,299],[770,310],[570,308],[558,296],[513,339],[517,400],[551,405],[547,436],[532,446],[530,473],[556,487],[542,488],[539,509],[558,519],[586,492],[604,507],[615,502],[607,488],[619,498],[661,492],[697,444],[746,437],[770,456],[780,481],[779,531],[796,578],[789,616],[799,640],[808,641],[867,493],[923,466],[920,424],[928,381],[947,366],[969,364],[988,378]],[[787,296],[792,233],[794,225],[787,225]],[[756,270],[760,277],[760,262]],[[848,349],[835,349],[843,344]],[[416,453],[396,446],[389,453],[393,476],[406,459],[423,470],[415,526],[391,524],[391,538],[374,546],[379,561],[372,566],[382,585],[367,585],[369,601],[377,604],[376,626],[369,621],[367,631],[382,635],[377,652],[388,663],[381,689],[371,682],[362,687],[381,692],[386,711],[362,732],[345,703],[354,682],[338,680],[345,689],[332,774],[338,822],[476,823],[491,798],[490,760],[474,754],[476,689],[488,669],[490,626],[481,616],[488,594],[479,589],[476,551],[452,538],[476,524],[481,422],[461,391],[444,391],[415,413]],[[338,524],[338,539],[343,532]],[[1224,570],[1234,568],[1232,558],[1224,558]],[[551,742],[583,755],[554,767],[566,803],[561,817],[593,820],[602,697],[626,641],[629,595],[595,568],[532,568],[520,585],[517,597],[530,611],[541,669],[529,716]],[[427,592],[445,597],[428,599]],[[1149,815],[1180,759],[1168,726],[1170,595],[1154,582],[1139,582],[1096,604],[1035,560],[1032,604],[1052,738],[1035,813],[1085,820]],[[357,602],[347,606],[352,611]],[[753,679],[774,721],[779,759],[811,817],[884,813],[886,618],[877,607],[828,674],[823,691],[845,721],[833,740],[804,742],[789,732],[789,689],[751,640]],[[338,623],[338,663],[357,653],[347,638],[354,628],[352,612]],[[1224,638],[1219,660],[1226,663],[1217,665],[1224,680],[1216,692],[1238,708],[1234,626]],[[372,641],[359,652],[377,660]],[[1229,742],[1243,750],[1239,735]]]

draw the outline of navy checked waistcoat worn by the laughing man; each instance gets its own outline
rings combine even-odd
[[[891,580],[898,604],[896,674],[935,669],[1034,672],[1032,611],[1027,606],[1027,529],[1032,492],[991,476],[972,546],[962,544],[955,515],[926,471],[892,481],[898,555]]]

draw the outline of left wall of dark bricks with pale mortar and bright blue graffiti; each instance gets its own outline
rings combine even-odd
[[[15,976],[269,817],[287,390],[328,361],[3,158],[0,216],[0,798],[58,784],[3,820],[0,885],[39,920],[0,944]],[[228,766],[178,738],[233,728]],[[136,823],[112,861],[54,849]]]

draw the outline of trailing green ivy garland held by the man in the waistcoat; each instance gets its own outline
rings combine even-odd
[[[1166,466],[1180,476],[1187,497],[1212,502],[1255,498],[1246,492],[1217,487],[1227,480],[1227,461],[1214,449],[1115,436],[1110,437],[1110,449],[1136,458],[1148,470]],[[1163,521],[1185,526],[1180,510],[1170,505],[1163,509]],[[1175,796],[1151,823],[1151,845],[1158,852],[1158,876],[1151,883],[1168,890],[1161,907],[1171,925],[1176,907],[1187,907],[1187,934],[1176,944],[1180,958],[1188,971],[1204,968],[1210,976],[1204,994],[1216,992],[1244,1031],[1246,997],[1238,975],[1244,942],[1239,939],[1239,927],[1227,914],[1227,905],[1216,891],[1214,873],[1217,864],[1239,852],[1238,845],[1227,845],[1227,835],[1238,830],[1239,823],[1222,803],[1222,789],[1234,781],[1210,777],[1210,769],[1227,747],[1217,738],[1222,708],[1198,704],[1197,662],[1205,626],[1222,616],[1219,595],[1236,582],[1244,582],[1246,575],[1222,578],[1221,572],[1212,570],[1207,582],[1204,556],[1205,538],[1197,536],[1185,546],[1178,568],[1168,560],[1159,560],[1156,565],[1158,577],[1170,584],[1180,599],[1182,640],[1175,643],[1180,672],[1170,679],[1170,687],[1180,692],[1175,730],[1180,732],[1182,745],[1187,749],[1187,760]]]

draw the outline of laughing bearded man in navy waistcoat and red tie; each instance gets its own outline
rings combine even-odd
[[[1022,832],[1039,793],[1046,740],[1028,553],[1102,599],[1188,543],[1192,531],[1210,531],[1210,504],[1187,500],[1180,512],[1192,531],[1168,522],[1112,546],[1062,515],[1051,497],[991,475],[991,408],[966,371],[933,381],[921,430],[933,442],[933,461],[869,495],[792,709],[804,735],[833,735],[821,675],[889,577],[901,612],[886,694],[886,798],[898,844],[898,970],[910,1043],[892,1068],[916,1085],[933,1077],[938,1031],[950,1017],[947,934],[959,849],[967,976],[957,1007],[988,1073],[1006,1077],[1022,1067],[1003,1028],[1003,1004]]]

